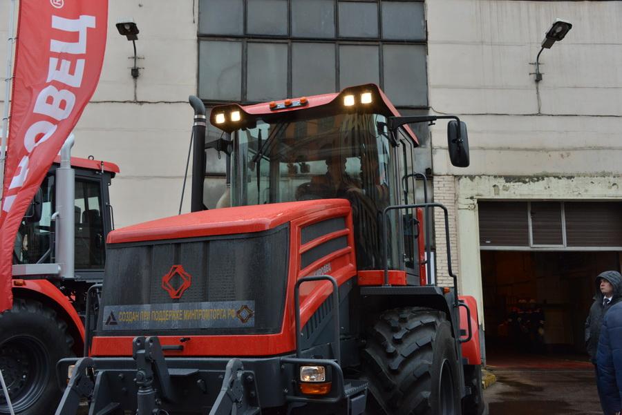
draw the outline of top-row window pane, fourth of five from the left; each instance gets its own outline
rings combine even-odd
[[[339,3],[340,37],[378,37],[378,3]]]

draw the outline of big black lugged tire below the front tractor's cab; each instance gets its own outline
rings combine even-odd
[[[363,351],[370,413],[460,415],[460,366],[445,313],[403,307],[381,313]]]

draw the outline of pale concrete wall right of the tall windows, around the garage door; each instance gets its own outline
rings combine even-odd
[[[471,147],[471,166],[451,166],[438,123],[433,173],[456,181],[460,286],[481,298],[479,199],[622,199],[622,2],[433,0],[426,12],[431,113],[459,115]],[[573,28],[543,51],[536,84],[556,18]],[[436,200],[448,191],[435,186]]]

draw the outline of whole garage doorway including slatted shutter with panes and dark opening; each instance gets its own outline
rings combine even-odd
[[[622,203],[478,201],[487,355],[587,359],[594,280],[620,270]]]

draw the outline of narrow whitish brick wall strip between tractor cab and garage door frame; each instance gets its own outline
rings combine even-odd
[[[449,213],[449,244],[451,246],[451,268],[458,274],[458,235],[455,222],[455,177],[434,176],[434,202],[442,203]],[[442,287],[453,287],[453,279],[449,276],[447,267],[447,249],[445,241],[444,212],[436,208],[434,212],[435,242],[436,242],[436,281]]]

